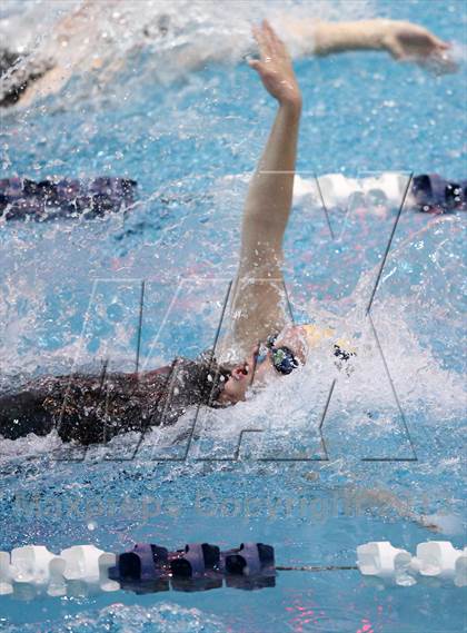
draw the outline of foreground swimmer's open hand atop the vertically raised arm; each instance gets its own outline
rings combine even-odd
[[[250,60],[249,66],[258,72],[266,90],[279,103],[300,108],[300,88],[285,43],[267,20],[264,20],[261,27],[254,27],[254,36],[260,59]]]

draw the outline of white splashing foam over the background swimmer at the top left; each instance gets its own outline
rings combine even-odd
[[[49,11],[49,3],[43,0],[27,4],[23,12],[14,12],[17,7],[12,6],[11,13],[7,12],[0,21],[0,33],[8,33],[6,42],[12,49],[32,49],[34,59],[58,63],[60,72],[41,82],[41,92],[48,90],[49,80],[54,92],[72,77],[85,78],[90,71],[82,86],[73,87],[74,98],[86,98],[90,89],[97,97],[97,83],[109,86],[122,73],[128,75],[131,87],[136,58],[139,58],[138,83],[171,82],[209,62],[237,63],[255,50],[251,23],[264,17],[282,33],[294,55],[309,53],[312,42],[288,32],[290,24],[315,20],[317,16],[321,20],[370,17],[372,6],[371,0],[332,3],[322,0],[315,2],[310,11],[306,4],[289,1],[279,11],[265,0],[248,3],[230,0],[228,8],[226,2],[173,4],[155,0],[146,2],[145,11],[140,11],[137,3],[127,0],[106,6],[56,2]]]

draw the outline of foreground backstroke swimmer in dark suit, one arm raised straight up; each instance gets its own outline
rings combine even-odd
[[[295,326],[285,309],[282,240],[294,192],[301,93],[285,43],[268,22],[254,30],[259,59],[249,61],[278,102],[245,204],[229,332],[213,353],[140,374],[46,376],[0,395],[0,435],[16,439],[57,429],[63,442],[105,443],[129,432],[173,424],[189,407],[231,406],[266,383],[285,380],[308,352],[328,345],[339,366],[355,352],[330,328]]]

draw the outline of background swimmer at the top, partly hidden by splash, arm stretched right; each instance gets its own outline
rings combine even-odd
[[[3,50],[0,55],[0,60],[3,60],[0,63],[0,107],[17,102],[28,107],[38,98],[58,93],[73,75],[96,75],[99,86],[111,82],[121,72],[123,59],[116,58],[112,52],[109,33],[125,39],[128,31],[136,28],[131,14],[122,9],[111,0],[106,7],[85,0],[78,10],[58,21],[50,37],[44,38],[36,50],[21,55]],[[380,50],[389,52],[397,61],[416,62],[436,72],[457,69],[449,56],[449,43],[408,21],[299,21],[282,14],[276,16],[275,21],[280,24],[281,37],[297,55]],[[163,39],[171,28],[170,17],[159,16],[157,23],[143,27],[133,48],[141,49]],[[222,50],[220,55],[223,57],[225,52]],[[173,55],[176,66],[187,70],[219,58],[218,51],[207,50],[198,41]]]

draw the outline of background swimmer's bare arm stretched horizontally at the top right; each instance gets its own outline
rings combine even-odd
[[[309,41],[309,52],[326,56],[348,50],[386,50],[399,61],[415,61],[444,72],[456,65],[449,59],[447,42],[418,24],[399,20],[356,22],[285,21],[291,36]]]

